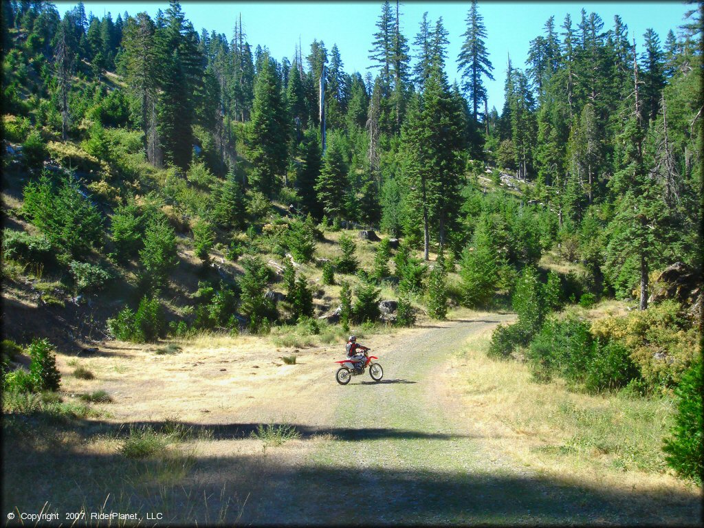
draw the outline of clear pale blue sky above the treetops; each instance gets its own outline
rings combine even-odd
[[[55,2],[59,13],[75,6],[75,1]],[[252,47],[257,44],[268,46],[277,60],[284,56],[292,58],[294,49],[301,39],[303,56],[308,54],[313,39],[325,42],[327,49],[337,43],[345,71],[357,70],[365,75],[370,65],[368,51],[375,23],[381,12],[382,1],[337,1],[337,2],[231,2],[231,1],[183,1],[182,8],[198,32],[205,27],[208,32],[215,30],[232,38],[234,20],[239,13],[247,39]],[[127,11],[130,15],[146,11],[153,17],[156,10],[168,8],[163,2],[128,1],[84,1],[87,12],[92,11],[102,17],[110,12],[113,20],[118,13]],[[462,45],[461,35],[465,32],[465,19],[469,1],[406,1],[401,3],[401,31],[410,42],[418,30],[425,11],[434,21],[442,17],[450,32],[447,72],[450,82],[459,80],[456,58]],[[395,7],[395,6],[394,6]],[[558,2],[558,1],[484,1],[479,0],[479,12],[486,25],[486,46],[490,60],[494,64],[494,81],[486,80],[489,92],[489,108],[496,106],[499,112],[503,106],[503,84],[508,54],[515,67],[524,68],[530,40],[543,34],[543,25],[551,15],[555,15],[555,25],[559,27],[567,13],[572,16],[573,27],[580,20],[580,11],[586,9],[601,16],[604,30],[613,25],[614,15],[621,15],[629,28],[629,39],[636,38],[640,47],[643,33],[652,27],[665,42],[669,30],[677,34],[684,13],[690,8],[676,1],[644,2]],[[411,53],[413,54],[413,46]]]

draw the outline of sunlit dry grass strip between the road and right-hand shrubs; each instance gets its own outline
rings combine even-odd
[[[662,438],[672,422],[672,398],[579,394],[556,380],[532,382],[528,365],[486,357],[491,332],[477,334],[456,356],[455,387],[477,425],[520,463],[555,476],[579,475],[639,489],[683,488],[665,465]],[[467,365],[472,371],[467,373]]]

